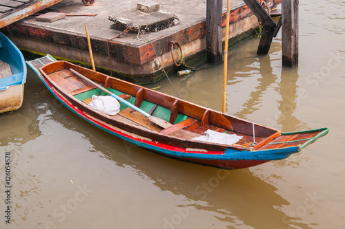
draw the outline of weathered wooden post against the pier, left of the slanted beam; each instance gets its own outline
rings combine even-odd
[[[207,61],[223,61],[223,43],[221,39],[222,0],[207,0],[206,8],[206,52]]]

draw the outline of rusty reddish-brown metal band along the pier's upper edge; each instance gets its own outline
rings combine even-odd
[[[59,1],[59,0],[57,0]],[[245,17],[249,17],[253,13],[250,9],[243,4],[230,11],[230,23],[235,23]],[[222,16],[222,27],[225,26],[226,14]],[[56,43],[59,45],[65,45],[68,47],[75,47],[79,50],[88,51],[88,45],[86,36],[81,34],[74,34],[71,32],[63,32],[59,30],[53,30],[48,28],[42,28],[36,25],[28,25],[26,23],[14,23],[8,25],[10,32],[15,35],[21,35],[30,37],[32,39],[39,39],[48,41],[50,43]],[[195,25],[190,26],[174,34],[165,36],[163,39],[152,41],[152,45],[158,55],[164,54],[170,51],[170,41],[176,41],[180,45],[190,43],[196,39],[206,35],[206,21],[199,21]],[[107,40],[106,39],[92,39],[92,50],[94,53],[103,54],[108,56]],[[155,58],[155,52],[150,43],[145,43],[138,47],[133,47],[130,44],[123,44],[117,41],[109,41],[110,57],[118,58],[122,61],[142,65],[148,61],[152,61]],[[103,48],[99,48],[103,47]]]

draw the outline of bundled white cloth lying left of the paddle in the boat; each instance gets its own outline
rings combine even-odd
[[[120,111],[120,103],[112,96],[92,96],[92,101],[89,106],[101,113],[109,116],[115,116]]]

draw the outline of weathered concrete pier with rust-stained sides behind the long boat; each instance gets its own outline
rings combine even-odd
[[[27,17],[3,28],[10,39],[21,50],[37,54],[51,54],[81,65],[90,65],[88,43],[84,23],[88,32],[97,70],[134,83],[152,83],[164,76],[166,71],[177,70],[172,59],[178,52],[170,52],[170,41],[179,43],[184,59],[193,61],[206,57],[206,1],[163,1],[159,10],[175,15],[175,24],[158,32],[143,31],[144,34],[112,29],[114,22],[108,17],[117,13],[133,12],[138,1],[95,0],[92,6],[84,6],[81,0],[63,0],[50,10],[66,14],[97,14],[95,17],[66,16],[53,22],[37,21]],[[275,8],[281,1],[269,0],[268,6]],[[223,3],[222,27],[225,31],[226,0]],[[134,17],[135,15],[130,15]],[[258,26],[257,18],[242,0],[232,0],[230,10],[230,39],[238,39],[253,32]],[[225,36],[223,36],[225,37]],[[176,48],[176,45],[175,45]],[[159,59],[157,59],[157,57]]]

